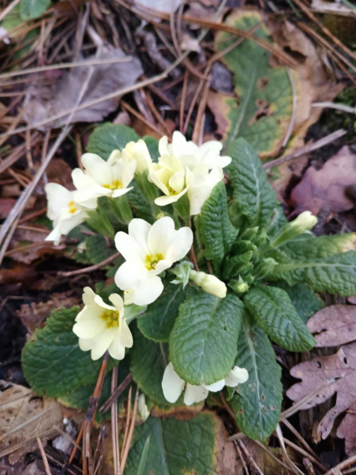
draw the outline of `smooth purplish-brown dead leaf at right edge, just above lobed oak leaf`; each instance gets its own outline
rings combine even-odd
[[[308,321],[307,327],[317,342],[315,346],[338,346],[356,340],[356,307],[330,305]]]

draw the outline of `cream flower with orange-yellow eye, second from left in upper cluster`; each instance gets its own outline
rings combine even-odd
[[[75,168],[72,179],[75,188],[75,200],[88,206],[93,198],[108,196],[117,198],[132,190],[128,185],[133,179],[136,161],[122,157],[119,150],[114,150],[107,161],[95,153],[82,155],[84,171]]]

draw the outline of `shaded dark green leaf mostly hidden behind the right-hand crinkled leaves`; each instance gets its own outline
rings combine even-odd
[[[315,294],[308,285],[296,284],[290,286],[282,280],[273,284],[287,292],[293,307],[304,323],[307,323],[312,315],[324,307],[324,302],[319,295]]]

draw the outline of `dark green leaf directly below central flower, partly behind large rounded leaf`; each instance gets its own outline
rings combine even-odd
[[[168,342],[169,334],[178,315],[185,294],[181,285],[168,284],[162,295],[150,304],[137,320],[141,333],[154,342]]]

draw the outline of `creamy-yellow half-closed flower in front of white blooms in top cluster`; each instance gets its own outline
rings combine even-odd
[[[165,155],[159,158],[158,163],[151,163],[149,176],[164,193],[164,196],[155,199],[158,206],[174,203],[187,192],[186,168],[176,157]]]

